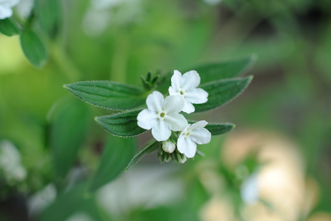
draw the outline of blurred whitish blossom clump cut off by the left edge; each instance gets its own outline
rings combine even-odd
[[[0,170],[8,183],[26,178],[26,169],[21,165],[21,155],[9,140],[0,143]]]

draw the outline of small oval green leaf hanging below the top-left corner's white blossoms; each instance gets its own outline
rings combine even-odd
[[[43,67],[48,54],[45,45],[32,30],[24,30],[21,34],[21,47],[26,58],[36,67]]]

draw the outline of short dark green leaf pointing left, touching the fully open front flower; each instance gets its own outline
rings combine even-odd
[[[112,114],[108,116],[99,116],[95,120],[103,129],[116,135],[123,137],[137,136],[143,133],[143,129],[137,125],[137,115],[142,109],[134,109],[129,112]]]

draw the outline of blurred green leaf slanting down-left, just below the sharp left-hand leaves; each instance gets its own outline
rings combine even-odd
[[[135,150],[135,138],[109,136],[99,168],[90,185],[90,191],[95,191],[119,176],[119,173],[126,169]]]

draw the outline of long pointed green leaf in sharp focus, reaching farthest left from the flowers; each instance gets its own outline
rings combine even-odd
[[[111,81],[81,81],[63,87],[87,103],[108,109],[132,109],[146,101],[139,87]]]

